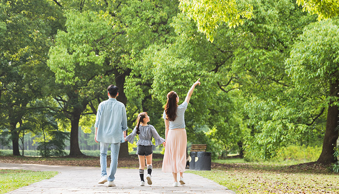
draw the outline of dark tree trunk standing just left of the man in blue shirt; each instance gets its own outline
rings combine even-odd
[[[69,156],[84,156],[79,148],[79,120],[81,111],[74,111],[71,118],[71,137]]]

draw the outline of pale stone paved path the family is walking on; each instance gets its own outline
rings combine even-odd
[[[45,179],[7,194],[235,194],[226,187],[198,175],[184,173],[186,184],[172,186],[171,173],[153,169],[152,185],[139,186],[138,169],[118,168],[116,187],[97,184],[100,168],[79,166],[54,166],[42,164],[0,163],[1,169],[25,169],[33,171],[59,171],[51,179]]]

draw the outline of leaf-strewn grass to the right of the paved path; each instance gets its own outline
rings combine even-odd
[[[186,171],[237,194],[339,194],[338,175],[290,169],[284,164],[242,164],[223,170]]]

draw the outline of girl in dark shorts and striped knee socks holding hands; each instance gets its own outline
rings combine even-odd
[[[139,135],[139,141],[137,142],[137,154],[139,157],[139,176],[140,176],[140,186],[145,186],[144,181],[144,168],[145,168],[145,157],[147,163],[147,183],[152,184],[152,136],[155,140],[155,146],[163,144],[165,146],[165,140],[161,138],[152,125],[147,125],[150,122],[150,117],[146,112],[139,113],[137,118],[137,126],[133,129],[132,133],[129,134],[125,140],[133,144],[134,137],[136,134]]]

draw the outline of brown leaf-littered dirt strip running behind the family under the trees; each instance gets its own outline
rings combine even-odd
[[[162,167],[162,154],[153,154],[153,167]],[[30,164],[48,164],[48,165],[69,165],[69,166],[100,166],[99,157],[81,156],[81,157],[28,157],[28,156],[0,156],[0,162],[4,163],[30,163]],[[108,166],[110,164],[110,156],[107,156]],[[312,172],[327,173],[329,166],[324,166],[316,162],[303,163],[292,166],[267,166],[261,164],[249,163],[216,163],[212,162],[211,169],[228,170],[228,169],[255,169],[259,171],[277,171],[288,173]],[[119,158],[118,168],[139,168],[139,159],[137,155],[129,155],[127,158]]]

